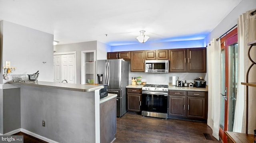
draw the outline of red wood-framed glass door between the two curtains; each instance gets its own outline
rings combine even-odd
[[[233,131],[236,106],[237,69],[238,69],[238,37],[237,28],[232,30],[221,41],[221,112],[220,139],[227,143],[224,131]]]

